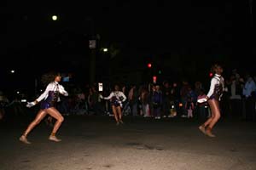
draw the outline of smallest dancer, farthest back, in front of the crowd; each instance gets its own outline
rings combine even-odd
[[[124,123],[122,121],[122,102],[126,100],[126,96],[122,91],[119,90],[119,86],[115,85],[113,92],[111,92],[108,97],[103,97],[102,95],[100,95],[100,97],[102,99],[110,99],[116,125],[119,125],[119,123]]]

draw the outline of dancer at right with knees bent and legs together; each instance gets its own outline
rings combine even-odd
[[[221,76],[223,72],[221,65],[212,65],[211,71],[214,73],[214,76],[211,80],[209,92],[205,98],[199,99],[197,102],[208,102],[212,112],[212,116],[209,117],[207,121],[199,127],[199,129],[202,133],[207,134],[207,136],[215,137],[215,135],[212,134],[212,127],[216,124],[216,122],[218,122],[218,119],[220,118],[219,100],[221,99],[224,91],[224,77]]]

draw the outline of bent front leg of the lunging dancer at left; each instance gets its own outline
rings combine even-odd
[[[64,117],[61,116],[61,113],[57,111],[54,107],[50,107],[49,109],[47,109],[47,112],[50,116],[56,119],[55,125],[53,127],[52,133],[49,136],[49,139],[55,142],[59,142],[61,141],[61,139],[57,139],[55,137],[55,133],[57,133],[58,129],[61,127],[61,123],[64,121]]]

